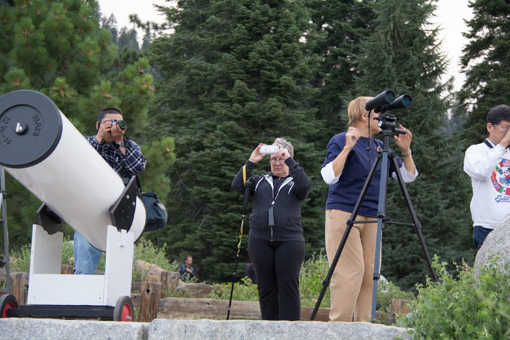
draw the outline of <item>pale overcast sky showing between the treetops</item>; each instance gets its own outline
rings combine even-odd
[[[162,23],[165,21],[163,16],[156,11],[152,4],[168,5],[174,3],[165,0],[99,0],[101,13],[104,16],[110,16],[113,13],[119,28],[123,26],[133,27],[133,24],[129,22],[129,15],[133,13],[138,14],[142,21],[150,20]],[[464,81],[464,75],[460,73],[461,67],[458,65],[459,58],[462,55],[464,45],[467,43],[467,40],[462,36],[462,32],[467,31],[464,19],[471,19],[473,14],[468,7],[468,0],[439,0],[437,6],[436,20],[432,20],[432,22],[441,25],[443,28],[441,32],[442,48],[450,58],[448,74],[455,77],[454,90],[459,90]],[[139,31],[138,35],[141,39],[143,32]]]

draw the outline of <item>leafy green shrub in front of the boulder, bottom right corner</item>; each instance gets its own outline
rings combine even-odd
[[[415,328],[416,338],[510,338],[510,276],[490,265],[476,280],[464,264],[457,266],[455,279],[446,265],[434,257],[440,281],[417,285],[418,296],[410,301],[412,317],[400,318],[398,325]]]

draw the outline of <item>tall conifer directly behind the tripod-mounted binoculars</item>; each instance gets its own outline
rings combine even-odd
[[[411,129],[411,149],[419,176],[406,187],[423,228],[430,255],[461,263],[473,259],[470,240],[469,179],[463,174],[463,154],[445,136],[449,98],[441,83],[446,56],[439,49],[438,29],[429,18],[435,5],[426,0],[388,0],[371,3],[376,17],[372,33],[356,56],[356,79],[351,98],[375,96],[392,89],[409,93],[412,108],[391,112],[397,123]],[[391,147],[398,148],[391,143]],[[398,155],[398,152],[397,152]],[[410,222],[396,181],[389,180],[387,215]],[[411,289],[428,273],[422,249],[412,228],[388,225],[383,232],[381,273]]]

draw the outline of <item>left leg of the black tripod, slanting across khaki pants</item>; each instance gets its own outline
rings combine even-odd
[[[363,200],[365,199],[365,196],[368,191],[368,187],[370,186],[370,182],[372,181],[372,178],[374,177],[374,174],[375,174],[375,169],[377,169],[377,166],[379,163],[380,163],[380,158],[377,158],[376,161],[372,164],[372,168],[370,169],[367,179],[365,180],[365,184],[363,185],[361,194],[358,197],[358,201],[356,201],[356,204],[354,205],[354,210],[352,211],[352,215],[351,215],[350,219],[347,221],[347,229],[345,229],[342,240],[340,241],[337,252],[335,253],[335,257],[333,258],[333,261],[331,261],[331,266],[329,267],[329,271],[327,272],[326,278],[324,279],[324,281],[322,283],[322,289],[319,294],[319,297],[317,298],[317,302],[315,303],[315,307],[314,307],[314,310],[312,311],[312,316],[310,317],[310,321],[314,321],[315,316],[317,315],[317,311],[319,310],[322,299],[324,298],[324,294],[326,294],[327,287],[329,286],[329,282],[331,281],[331,276],[333,276],[333,272],[335,271],[335,268],[337,267],[337,263],[338,263],[338,259],[340,258],[340,254],[342,254],[342,250],[344,249],[345,242],[347,241],[347,238],[349,237],[349,232],[352,228],[352,224],[354,224],[354,220],[356,219],[356,216],[358,216],[358,213],[359,213],[360,207],[361,207],[361,202],[363,202]]]

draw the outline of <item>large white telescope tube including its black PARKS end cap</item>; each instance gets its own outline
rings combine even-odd
[[[124,184],[51,99],[30,90],[0,97],[0,165],[91,245],[106,250],[109,209]],[[137,197],[133,224],[124,227],[137,240],[144,226]]]

